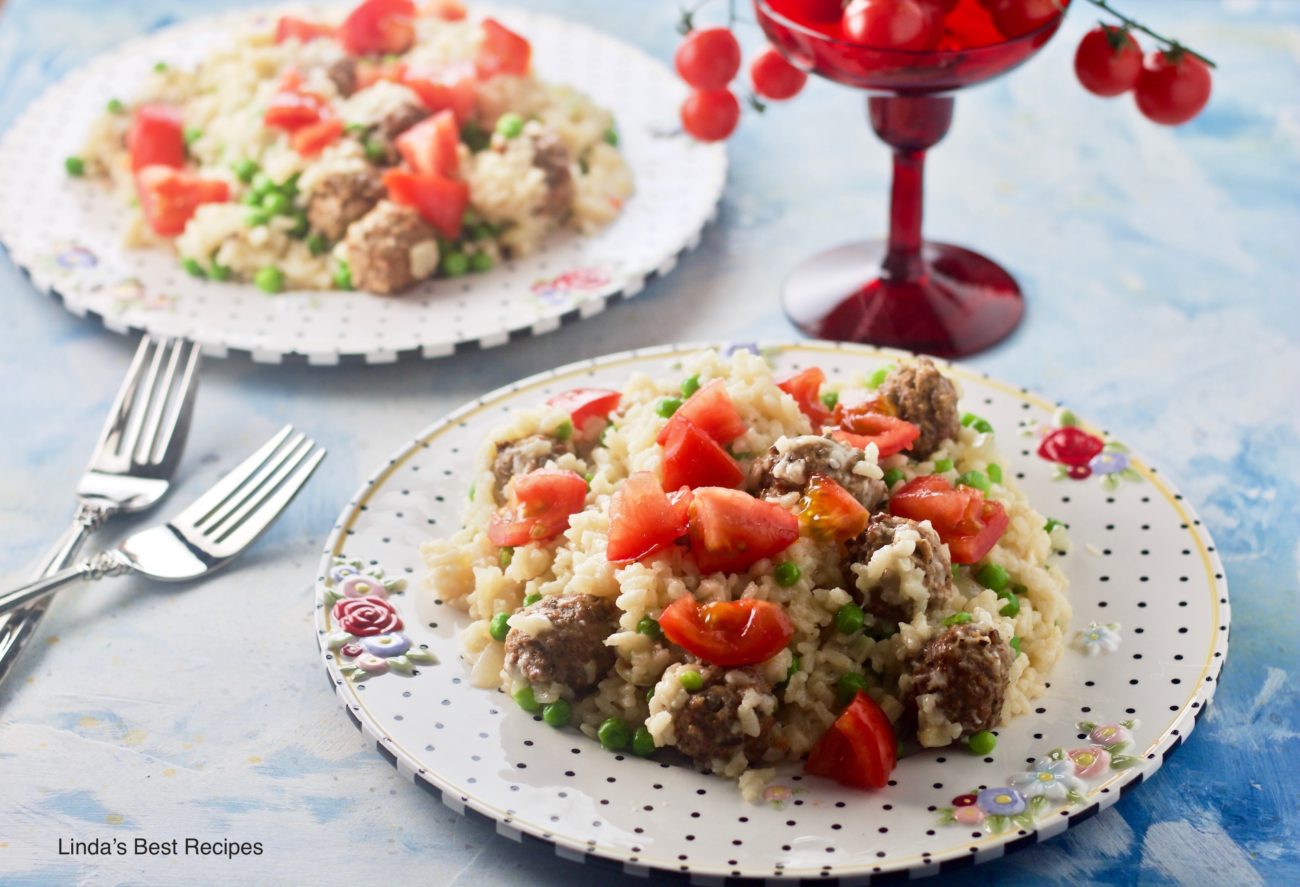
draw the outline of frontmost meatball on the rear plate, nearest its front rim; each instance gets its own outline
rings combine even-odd
[[[347,229],[343,242],[352,285],[390,294],[438,268],[437,234],[411,207],[381,200]]]

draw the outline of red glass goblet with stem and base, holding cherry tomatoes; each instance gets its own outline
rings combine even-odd
[[[845,40],[835,25],[793,17],[801,1],[754,0],[754,8],[772,46],[792,64],[872,94],[867,118],[894,150],[893,189],[889,238],[846,243],[805,260],[785,281],[785,313],[818,338],[940,356],[1000,342],[1020,323],[1020,287],[978,252],[922,239],[926,151],[948,133],[950,94],[1023,62],[1056,34],[1063,13],[1005,39],[974,0],[962,0],[945,22],[957,33],[945,33],[937,49],[876,49]]]

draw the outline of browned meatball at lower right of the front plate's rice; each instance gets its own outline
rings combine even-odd
[[[911,671],[920,744],[946,745],[996,727],[1013,661],[1011,648],[988,626],[953,626],[932,637]]]

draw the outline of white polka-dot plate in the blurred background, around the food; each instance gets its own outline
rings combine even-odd
[[[299,10],[300,12],[300,10]],[[199,18],[129,40],[68,74],[0,139],[0,242],[35,287],[118,333],[147,330],[265,363],[389,363],[538,336],[640,293],[698,245],[727,177],[722,144],[677,129],[685,87],[640,49],[552,16],[473,4],[528,36],[538,75],[614,111],[636,194],[594,237],[556,234],[537,255],[400,297],[299,291],[188,277],[169,250],[122,247],[129,209],[95,182],[69,178],[112,95],[138,94],[156,61],[192,66],[274,10]]]

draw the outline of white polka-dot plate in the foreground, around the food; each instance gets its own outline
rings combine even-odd
[[[419,548],[458,525],[464,479],[506,411],[577,385],[671,375],[668,346],[541,373],[425,429],[358,490],[321,559],[316,629],[330,687],[398,773],[512,840],[638,874],[725,878],[933,874],[1046,840],[1109,806],[1191,734],[1227,655],[1228,600],[1213,541],[1183,497],[1104,430],[1041,397],[949,365],[962,408],[1000,437],[1004,473],[1069,527],[1074,623],[1034,714],[998,728],[987,756],[962,745],[905,757],[876,792],[779,770],[763,800],[734,780],[614,754],[552,730],[458,658],[465,616],[425,589]],[[755,346],[729,346],[755,347]],[[833,343],[762,346],[777,371],[861,378],[898,352]],[[1062,430],[1069,428],[1072,430]],[[1040,455],[1063,458],[1049,460]],[[334,605],[387,584],[382,641],[344,644]],[[408,585],[407,585],[408,584]],[[356,642],[355,639],[348,642]]]

